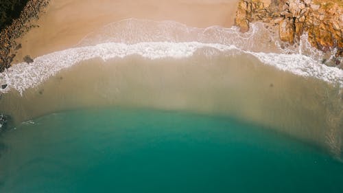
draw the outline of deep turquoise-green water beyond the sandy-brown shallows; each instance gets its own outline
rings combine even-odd
[[[340,161],[229,117],[66,111],[0,141],[0,192],[343,192]]]

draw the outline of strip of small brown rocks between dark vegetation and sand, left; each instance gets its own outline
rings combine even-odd
[[[49,5],[49,0],[31,0],[25,5],[19,19],[14,19],[12,25],[5,27],[0,32],[0,72],[10,67],[16,50],[21,48],[20,44],[16,43],[16,38],[21,37],[25,32],[32,27],[30,21],[38,19],[38,14]]]

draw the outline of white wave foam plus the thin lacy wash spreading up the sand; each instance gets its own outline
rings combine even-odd
[[[300,54],[302,47],[300,51],[296,48],[287,49],[288,54],[286,54],[286,51],[279,47],[279,41],[272,35],[268,36],[270,41],[257,44],[257,40],[266,33],[268,32],[261,23],[252,25],[250,32],[241,34],[236,27],[213,26],[200,29],[174,21],[156,22],[137,19],[120,21],[89,34],[78,43],[77,47],[39,56],[30,65],[19,63],[6,69],[0,73],[0,83],[8,84],[8,87],[0,89],[0,92],[15,89],[23,94],[26,89],[38,86],[58,71],[91,58],[108,60],[134,54],[152,60],[168,57],[187,58],[200,49],[208,50],[204,52],[204,56],[217,53],[210,52],[210,49],[223,54],[232,51],[251,54],[262,63],[282,71],[319,78],[343,87],[341,69],[322,65],[318,60],[314,60],[314,57]],[[259,52],[270,47],[277,53]]]

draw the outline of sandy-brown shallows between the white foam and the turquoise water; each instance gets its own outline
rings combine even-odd
[[[327,148],[342,149],[342,93],[314,78],[261,64],[246,54],[149,60],[87,60],[45,84],[3,95],[0,111],[20,123],[85,107],[191,111],[236,117]]]

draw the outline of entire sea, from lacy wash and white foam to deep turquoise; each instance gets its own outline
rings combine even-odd
[[[0,73],[0,192],[343,192],[321,57],[261,23],[110,23]]]

